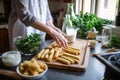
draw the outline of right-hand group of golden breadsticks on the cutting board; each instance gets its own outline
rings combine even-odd
[[[80,61],[80,50],[77,48],[73,48],[68,46],[61,55],[57,58],[57,61],[65,63],[65,64],[78,64]]]

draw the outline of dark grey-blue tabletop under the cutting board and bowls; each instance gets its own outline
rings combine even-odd
[[[45,41],[41,46],[41,49],[45,48],[51,42],[53,42],[53,40]],[[86,71],[84,72],[74,72],[49,68],[47,73],[40,80],[102,80],[105,72],[105,65],[102,64],[98,59],[93,57],[92,54],[101,53],[104,51],[105,50],[101,48],[101,43],[97,43],[95,49],[90,50],[88,66]],[[22,61],[29,60],[33,56],[22,56]],[[15,71],[16,67],[5,67],[4,65],[2,65],[2,62],[0,60],[0,69]],[[10,78],[8,79],[5,76],[0,75],[0,80],[10,80]]]

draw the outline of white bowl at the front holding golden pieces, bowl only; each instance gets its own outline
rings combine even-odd
[[[45,63],[44,63],[44,64],[45,64]],[[17,67],[16,72],[17,72],[17,74],[18,74],[19,76],[21,76],[23,79],[35,80],[35,79],[41,78],[41,77],[47,72],[48,66],[47,66],[46,64],[45,64],[45,66],[46,66],[46,69],[45,69],[42,73],[40,73],[40,74],[38,74],[38,75],[36,75],[36,76],[26,76],[26,75],[23,75],[23,74],[20,72],[20,70],[19,70],[19,66]]]

